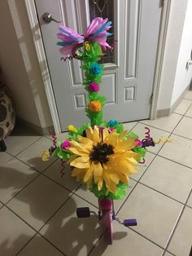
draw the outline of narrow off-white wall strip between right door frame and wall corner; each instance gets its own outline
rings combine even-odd
[[[171,2],[168,33],[164,50],[164,61],[159,86],[158,110],[171,108],[177,60],[181,46],[182,29],[188,0]]]

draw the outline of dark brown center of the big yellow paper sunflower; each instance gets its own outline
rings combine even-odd
[[[93,150],[90,153],[90,160],[106,163],[109,161],[107,156],[114,153],[113,149],[112,145],[108,145],[107,143],[98,143],[97,146],[93,147]]]

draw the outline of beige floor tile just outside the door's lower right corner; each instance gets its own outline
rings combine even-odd
[[[140,122],[147,126],[153,126],[155,128],[172,132],[172,130],[175,128],[175,126],[177,126],[177,123],[181,120],[181,118],[181,115],[172,113],[169,117],[159,117],[155,120],[143,120]]]

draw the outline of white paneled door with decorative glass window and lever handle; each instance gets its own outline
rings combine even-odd
[[[141,120],[150,117],[151,93],[159,37],[159,0],[36,0],[37,15],[50,68],[61,130],[81,126],[86,96],[79,60],[64,62],[56,45],[58,23],[42,20],[50,12],[55,20],[77,33],[84,33],[96,16],[113,22],[115,49],[104,58],[100,95],[107,96],[104,119]]]

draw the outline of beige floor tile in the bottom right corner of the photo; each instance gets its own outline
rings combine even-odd
[[[192,209],[185,207],[180,222],[176,228],[168,251],[177,256],[189,256],[192,245]]]

